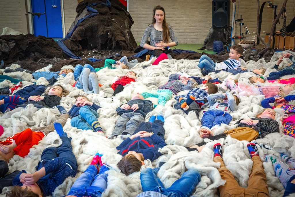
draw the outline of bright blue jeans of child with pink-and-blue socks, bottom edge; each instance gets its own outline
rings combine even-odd
[[[95,165],[89,165],[84,173],[74,182],[68,196],[101,196],[107,186],[107,175],[109,168],[103,165],[99,174]]]

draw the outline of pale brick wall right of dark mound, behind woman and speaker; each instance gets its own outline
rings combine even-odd
[[[260,2],[262,4],[263,1]],[[283,0],[275,0],[273,2],[278,4],[278,13],[281,9]],[[137,42],[140,42],[145,27],[152,21],[153,8],[159,4],[165,8],[166,21],[172,25],[179,43],[204,42],[204,39],[212,26],[211,0],[129,0],[129,12],[134,20],[134,25],[131,30]],[[289,24],[294,17],[293,6],[293,1],[288,1],[287,24]],[[250,33],[256,32],[257,1],[241,0],[238,13],[237,9],[238,1],[236,3],[236,19],[240,18],[240,14],[242,14],[242,18],[245,20],[244,23],[248,27]],[[232,10],[230,13],[232,15]],[[263,25],[261,27],[261,32],[269,32],[272,18],[273,9],[265,6],[263,9]],[[231,19],[232,16],[230,16],[230,21]],[[278,25],[277,29],[280,29],[281,26],[282,20],[281,25]],[[238,25],[236,34],[240,34],[240,28]]]

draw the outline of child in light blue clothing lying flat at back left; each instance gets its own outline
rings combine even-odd
[[[53,72],[53,71],[38,71],[38,72],[33,72],[33,71],[29,71],[29,70],[22,69],[22,68],[17,68],[15,70],[13,70],[13,69],[5,69],[4,70],[4,73],[17,72],[17,71],[23,72],[23,71],[25,71],[26,73],[32,74],[33,75],[33,79],[38,80],[40,77],[44,77],[46,80],[49,80],[49,79],[51,79],[53,77],[54,77],[54,79],[58,79],[58,77],[60,75],[62,75],[62,76],[65,77],[68,73],[74,72],[74,67],[73,66],[64,66],[64,68],[65,67],[67,69],[63,69],[63,70],[60,70],[60,71],[57,71],[57,72]]]

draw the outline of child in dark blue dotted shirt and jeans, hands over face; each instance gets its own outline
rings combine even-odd
[[[60,125],[61,127],[61,125]],[[41,155],[41,162],[36,172],[30,174],[22,170],[14,177],[6,196],[51,196],[55,188],[71,176],[75,177],[78,169],[77,160],[72,152],[71,138],[62,130],[58,133],[62,144],[59,147],[46,148]],[[4,179],[0,180],[0,184]],[[36,195],[35,195],[36,196]]]

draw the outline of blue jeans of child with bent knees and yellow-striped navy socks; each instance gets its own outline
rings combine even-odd
[[[79,114],[71,119],[71,125],[82,130],[94,130],[91,125],[99,117],[97,111],[85,105],[80,108]]]

